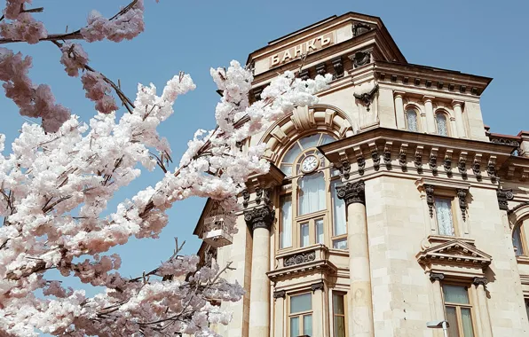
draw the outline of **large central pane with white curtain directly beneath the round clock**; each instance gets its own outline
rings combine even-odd
[[[299,215],[325,209],[323,172],[299,179]]]

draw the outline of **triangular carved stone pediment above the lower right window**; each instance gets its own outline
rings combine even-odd
[[[492,263],[492,256],[461,239],[449,240],[435,247],[422,250],[417,255],[422,265],[457,265],[485,269]]]

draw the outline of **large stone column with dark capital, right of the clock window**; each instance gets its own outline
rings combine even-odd
[[[348,310],[351,336],[373,337],[373,297],[367,239],[365,184],[362,180],[336,187],[338,198],[347,209],[347,247],[349,247],[350,291]]]

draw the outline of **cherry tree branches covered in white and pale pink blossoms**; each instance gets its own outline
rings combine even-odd
[[[223,93],[215,109],[217,128],[198,130],[171,169],[170,145],[157,127],[173,114],[175,99],[195,89],[191,77],[175,75],[161,93],[153,84],[139,84],[131,101],[89,66],[80,43],[72,43],[134,38],[144,29],[143,1],[132,1],[112,18],[92,12],[85,27],[60,35],[49,34],[35,19],[43,8],[29,8],[31,3],[6,0],[0,43],[54,43],[67,74],[81,75],[96,113],[89,122],[70,114],[48,85],[31,82],[30,57],[0,49],[6,97],[20,114],[42,118],[42,125],[25,123],[12,153],[0,154],[0,336],[216,336],[209,325],[227,324],[230,313],[211,303],[237,302],[244,294],[239,284],[223,278],[229,264],[201,264],[196,255],[179,255],[177,242],[166,262],[125,278],[117,271],[120,256],[108,252],[131,237],[156,238],[169,223],[172,204],[193,196],[217,200],[227,231],[237,231],[237,195],[250,175],[268,170],[264,146],[245,141],[296,106],[314,104],[314,93],[330,78],[302,81],[292,72],[281,74],[250,105],[249,69],[236,61],[211,69]],[[122,114],[114,97],[125,106]],[[0,135],[0,152],[4,141]],[[165,175],[102,216],[140,168],[159,168]],[[105,291],[87,296],[49,278],[47,270]]]

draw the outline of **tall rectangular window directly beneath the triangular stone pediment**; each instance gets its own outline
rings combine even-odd
[[[443,285],[446,320],[451,337],[474,337],[472,306],[466,286]]]

